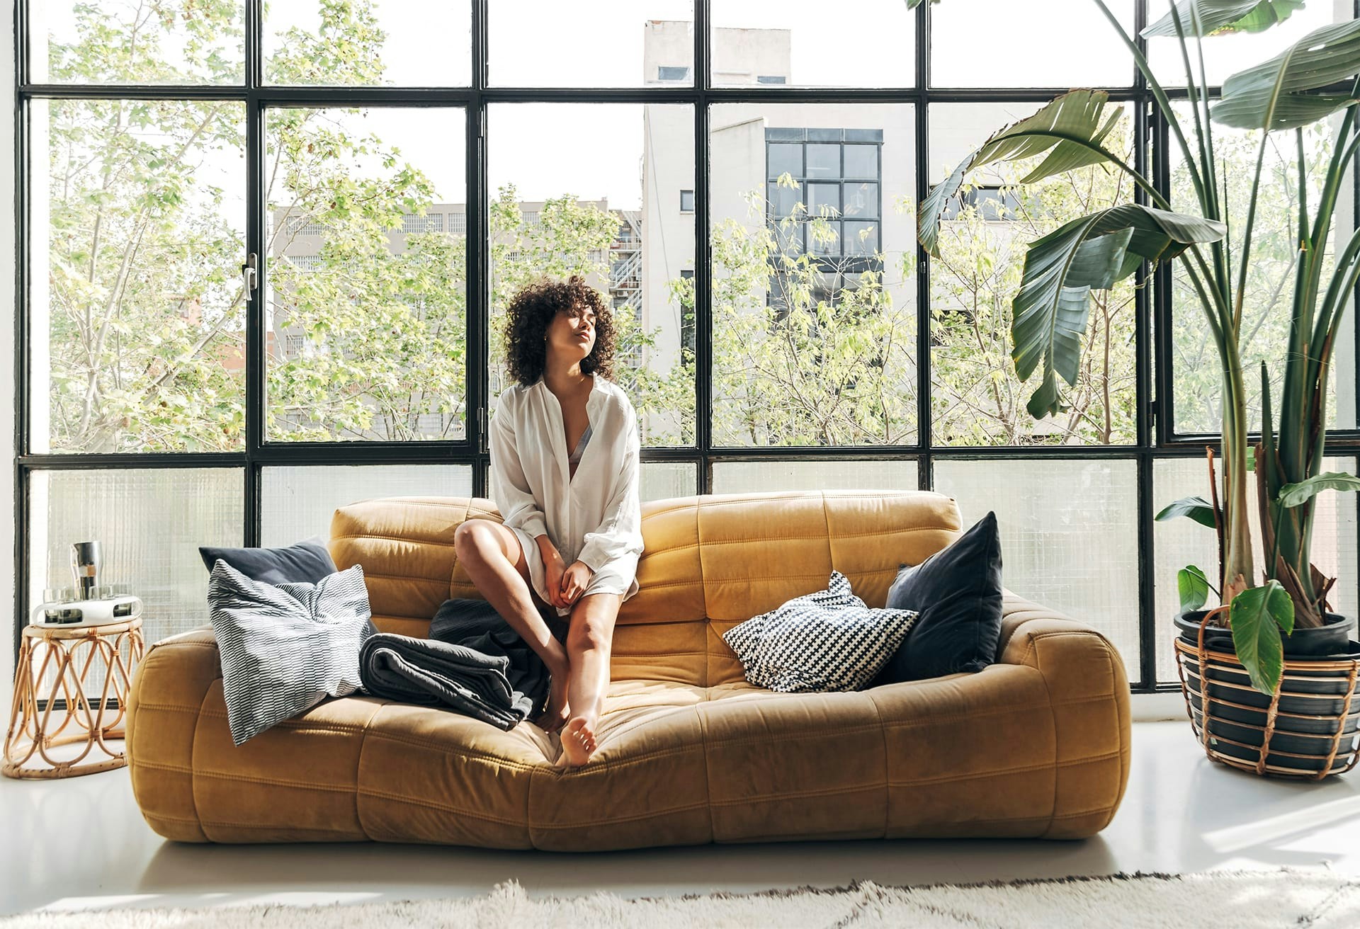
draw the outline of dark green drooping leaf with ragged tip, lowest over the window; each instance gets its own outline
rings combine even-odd
[[[1073,219],[1030,243],[1012,306],[1010,358],[1020,379],[1043,363],[1027,409],[1035,419],[1061,412],[1058,379],[1077,382],[1091,290],[1112,287],[1142,261],[1174,258],[1193,242],[1216,242],[1214,220],[1123,204]]]

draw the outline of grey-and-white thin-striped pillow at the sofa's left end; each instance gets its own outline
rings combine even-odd
[[[359,564],[317,584],[265,584],[219,558],[208,615],[237,745],[326,696],[359,690],[359,646],[378,631]]]

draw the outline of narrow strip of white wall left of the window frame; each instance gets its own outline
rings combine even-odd
[[[14,0],[0,3],[4,11],[4,24],[0,26],[0,98],[10,103],[10,113],[0,121],[0,280],[5,282],[0,294],[4,309],[0,318],[0,439],[8,449],[10,468],[4,473],[4,490],[0,490],[0,511],[5,526],[3,552],[0,552],[0,615],[10,616],[4,627],[4,642],[0,643],[0,721],[10,720],[11,681],[14,681],[14,550],[16,526],[14,513],[14,280],[18,269],[14,265]]]

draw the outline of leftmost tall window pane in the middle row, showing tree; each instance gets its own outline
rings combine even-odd
[[[245,435],[245,107],[34,99],[34,452]]]

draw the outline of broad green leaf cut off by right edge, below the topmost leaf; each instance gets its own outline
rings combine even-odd
[[[1360,73],[1360,19],[1315,29],[1269,61],[1223,82],[1214,122],[1239,129],[1293,129],[1356,101],[1321,88]]]

